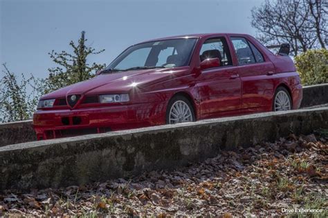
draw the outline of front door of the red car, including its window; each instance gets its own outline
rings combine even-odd
[[[201,119],[235,115],[241,107],[241,80],[233,66],[226,37],[204,41],[200,61],[219,58],[219,67],[201,70],[197,78]]]

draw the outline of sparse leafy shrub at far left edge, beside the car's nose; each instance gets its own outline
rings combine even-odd
[[[26,79],[22,74],[19,83],[17,75],[10,72],[6,64],[3,68],[5,76],[0,80],[0,122],[31,119],[39,99],[35,88],[37,79],[33,75]],[[27,94],[28,88],[33,90],[30,95]]]

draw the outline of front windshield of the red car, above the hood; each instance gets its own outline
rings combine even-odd
[[[187,66],[197,39],[167,39],[131,46],[106,70],[174,68]]]

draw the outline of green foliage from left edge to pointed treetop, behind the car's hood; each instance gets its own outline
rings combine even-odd
[[[17,75],[3,64],[5,76],[0,78],[0,122],[31,119],[39,97],[64,86],[90,79],[95,75],[93,70],[104,68],[104,64],[87,63],[86,59],[90,54],[99,54],[104,50],[95,52],[94,48],[85,46],[87,39],[84,38],[84,34],[82,32],[78,45],[73,41],[69,43],[73,48],[73,54],[65,51],[49,53],[51,59],[59,66],[48,69],[50,75],[46,79],[35,79],[33,75],[26,79],[22,74],[19,83]]]

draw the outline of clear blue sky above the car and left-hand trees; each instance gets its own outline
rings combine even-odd
[[[89,61],[107,64],[127,46],[147,39],[203,32],[254,35],[250,10],[261,3],[261,0],[0,0],[0,63],[6,63],[17,74],[47,77],[47,69],[55,66],[48,52],[71,52],[69,41],[77,41],[82,30],[86,31],[88,45],[105,49]]]

